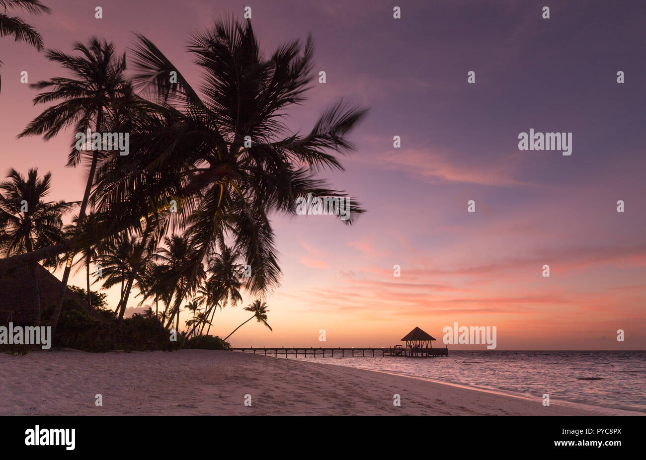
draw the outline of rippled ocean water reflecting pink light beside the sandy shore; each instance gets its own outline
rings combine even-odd
[[[283,358],[284,359],[284,358]],[[287,359],[294,359],[289,355]],[[646,351],[451,351],[448,357],[298,357],[550,402],[646,413]],[[594,380],[592,380],[594,379]]]

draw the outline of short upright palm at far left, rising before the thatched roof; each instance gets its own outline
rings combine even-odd
[[[51,173],[38,178],[38,170],[30,169],[27,178],[10,169],[5,182],[0,183],[0,252],[9,257],[51,246],[64,237],[62,216],[74,203],[44,202],[49,193]],[[56,267],[61,259],[54,256],[45,260],[46,267]],[[29,269],[34,278],[34,324],[41,320],[40,288],[37,276],[38,262]]]

